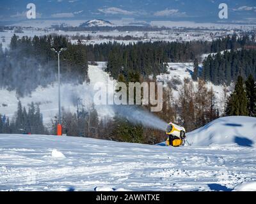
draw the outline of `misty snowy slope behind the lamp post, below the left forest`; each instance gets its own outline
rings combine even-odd
[[[98,62],[98,66],[89,65],[88,77],[90,78],[90,84],[61,84],[61,107],[67,112],[77,112],[77,98],[82,99],[84,108],[93,103],[94,91],[93,87],[97,82],[108,82],[108,73],[102,69],[105,66],[105,62]],[[17,106],[19,100],[22,106],[25,106],[28,110],[29,104],[34,102],[40,105],[40,111],[43,114],[45,126],[51,126],[51,120],[58,114],[58,83],[53,82],[47,87],[37,87],[29,96],[20,98],[15,91],[8,91],[6,89],[0,89],[0,113],[6,115],[10,120],[15,116],[17,112]],[[100,117],[104,115],[111,115],[111,110],[104,107],[97,107]]]

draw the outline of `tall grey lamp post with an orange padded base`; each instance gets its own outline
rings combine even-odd
[[[58,115],[58,127],[57,127],[57,135],[62,135],[62,126],[61,126],[61,103],[60,103],[60,54],[61,52],[67,50],[67,48],[60,48],[57,51],[54,47],[51,48],[52,51],[58,54],[58,103],[59,103],[59,115]]]

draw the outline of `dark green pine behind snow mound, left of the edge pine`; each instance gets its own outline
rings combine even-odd
[[[237,77],[234,92],[230,94],[226,109],[227,115],[248,115],[248,99],[244,87],[243,78]]]

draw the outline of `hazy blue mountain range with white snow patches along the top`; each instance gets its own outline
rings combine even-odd
[[[41,19],[134,18],[196,22],[220,21],[218,6],[226,3],[227,22],[256,22],[255,0],[1,0],[0,19],[25,19],[28,3],[36,5],[36,18]]]

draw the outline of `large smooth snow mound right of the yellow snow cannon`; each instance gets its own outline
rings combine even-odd
[[[187,133],[191,145],[209,146],[236,144],[253,147],[256,143],[256,118],[245,116],[221,117],[202,128]]]

